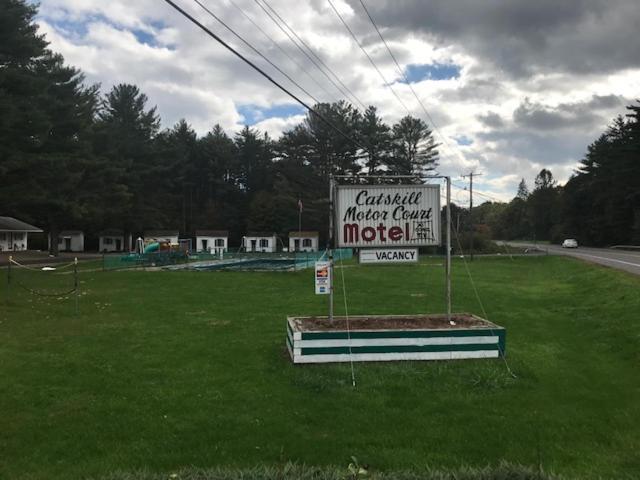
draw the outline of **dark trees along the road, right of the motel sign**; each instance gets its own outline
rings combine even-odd
[[[511,202],[474,208],[474,223],[500,239],[640,245],[640,103],[626,110],[587,147],[565,185],[542,169],[532,191],[523,179]]]

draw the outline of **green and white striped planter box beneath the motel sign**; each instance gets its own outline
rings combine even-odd
[[[479,325],[446,328],[351,328],[313,330],[305,319],[327,317],[288,317],[287,348],[293,363],[382,362],[394,360],[458,360],[465,358],[497,358],[505,353],[506,330],[494,323],[470,314]],[[441,316],[438,316],[441,317]],[[344,320],[344,317],[334,317]],[[416,315],[349,317],[397,319],[401,322]],[[338,325],[336,326],[338,327]]]

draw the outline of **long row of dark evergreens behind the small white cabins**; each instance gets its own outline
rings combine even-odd
[[[299,200],[303,228],[324,233],[331,174],[437,167],[425,122],[388,125],[375,107],[344,101],[314,106],[335,128],[307,114],[278,139],[248,126],[229,135],[214,119],[203,136],[184,119],[161,129],[137,86],[87,85],[38,34],[36,13],[0,0],[0,205],[51,238],[66,228],[216,228],[237,243],[246,231],[296,230]]]

